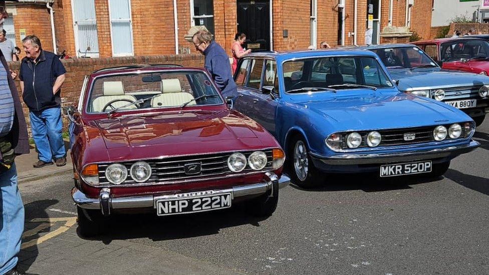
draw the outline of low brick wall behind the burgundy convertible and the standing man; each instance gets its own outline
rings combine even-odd
[[[133,65],[133,64],[179,64],[188,67],[203,67],[204,60],[202,55],[166,55],[166,56],[138,56],[138,57],[109,57],[109,58],[80,58],[65,59],[62,61],[66,68],[66,80],[61,88],[62,107],[78,104],[80,91],[83,80],[86,75],[102,68],[114,66]],[[10,62],[11,70],[19,71],[20,62]],[[16,80],[19,96],[22,99],[22,92],[19,85],[19,78]],[[31,133],[29,125],[29,109],[22,103],[28,130]],[[68,119],[63,115],[64,130],[68,127]]]

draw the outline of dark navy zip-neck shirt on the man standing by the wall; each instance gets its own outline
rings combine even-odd
[[[57,55],[41,50],[36,63],[23,58],[19,78],[24,81],[22,98],[30,110],[41,111],[61,105],[60,91],[53,95],[56,78],[66,70]]]

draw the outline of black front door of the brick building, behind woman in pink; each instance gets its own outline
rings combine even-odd
[[[237,32],[246,35],[243,47],[270,51],[270,1],[237,1]]]

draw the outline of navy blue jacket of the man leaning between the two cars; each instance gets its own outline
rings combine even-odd
[[[215,41],[212,41],[204,50],[204,56],[204,67],[209,71],[222,95],[234,94],[237,88],[231,76],[229,57],[224,49]]]

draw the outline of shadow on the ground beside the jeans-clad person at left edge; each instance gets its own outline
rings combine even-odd
[[[59,201],[56,199],[45,199],[38,200],[24,205],[26,212],[26,222],[24,227],[24,235],[22,236],[22,245],[25,245],[29,241],[39,238],[39,234],[43,232],[49,232],[51,226],[43,226],[41,230],[36,230],[36,227],[40,223],[29,222],[33,218],[48,218],[48,213],[46,210],[52,205],[57,204]],[[29,232],[33,233],[30,234]],[[27,235],[26,235],[27,233]],[[29,247],[21,249],[19,253],[19,269],[21,271],[26,271],[34,263],[37,256],[39,255],[39,250],[37,244],[31,245]]]

